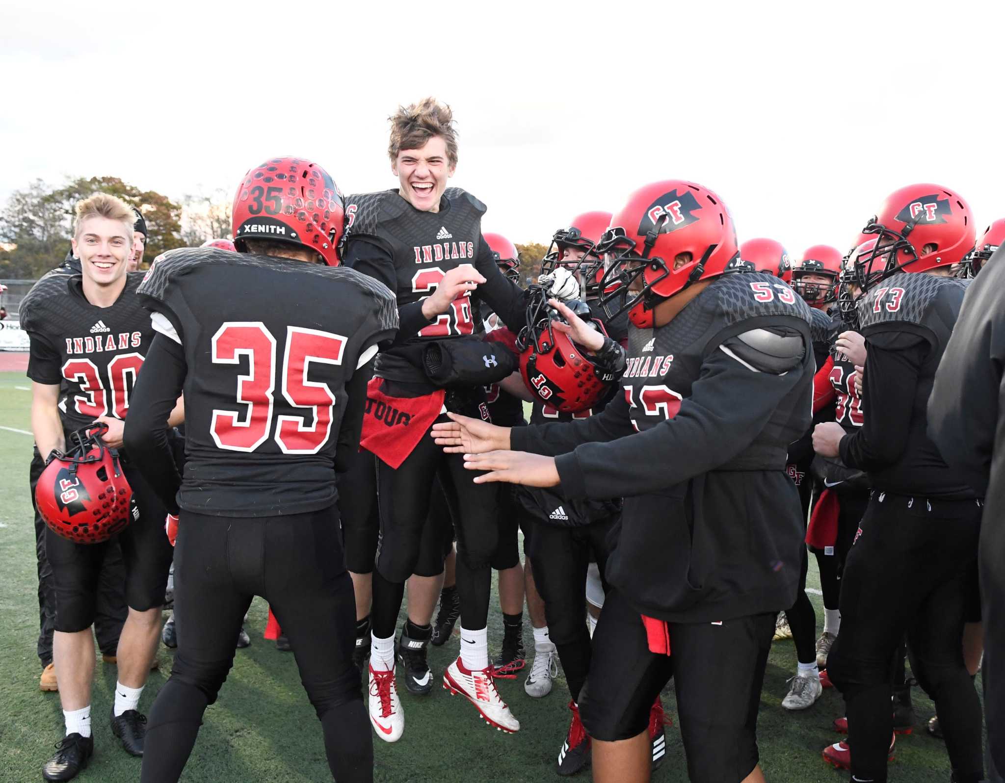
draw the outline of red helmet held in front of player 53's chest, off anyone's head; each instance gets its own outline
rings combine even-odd
[[[558,411],[589,410],[607,394],[617,377],[595,365],[567,334],[552,328],[554,321],[562,319],[548,304],[548,293],[542,286],[532,286],[528,303],[527,325],[517,336],[524,383],[542,403]],[[607,335],[586,303],[572,300],[565,305]]]

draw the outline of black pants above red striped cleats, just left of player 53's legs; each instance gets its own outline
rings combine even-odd
[[[538,519],[531,523],[534,583],[545,601],[548,635],[558,649],[569,695],[577,703],[593,649],[586,627],[586,572],[595,560],[606,593],[608,537],[616,522],[615,518],[582,528],[560,528]],[[605,600],[605,610],[606,606]]]

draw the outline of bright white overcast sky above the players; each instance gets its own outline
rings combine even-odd
[[[231,192],[273,155],[347,195],[393,187],[386,118],[434,94],[452,184],[516,242],[666,178],[797,256],[847,249],[912,182],[957,190],[979,231],[1005,217],[997,0],[13,5],[0,201],[64,175]]]

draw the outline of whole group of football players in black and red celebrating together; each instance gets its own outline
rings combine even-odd
[[[793,262],[738,243],[712,190],[664,180],[557,231],[521,287],[485,205],[447,187],[449,109],[391,125],[396,188],[344,196],[318,163],[269,159],[241,178],[232,240],[147,271],[142,213],[81,201],[71,255],[22,303],[38,651],[65,718],[43,778],[93,753],[96,637],[119,668],[115,736],[144,783],[179,780],[261,596],[338,781],[373,779],[374,736],[408,741],[398,689],[429,694],[428,645],[457,637],[442,687],[502,732],[531,703],[495,680],[540,699],[561,663],[559,775],[648,780],[672,678],[671,763],[763,781],[762,684],[789,635],[783,707],[844,697],[825,761],[887,779],[910,657],[953,780],[984,780],[983,487],[944,459],[959,435],[929,407],[1005,220],[978,237],[962,196],[913,185],[852,246]],[[172,564],[176,653],[148,721]]]

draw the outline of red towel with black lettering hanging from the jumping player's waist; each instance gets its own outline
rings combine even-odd
[[[398,469],[439,416],[446,390],[421,397],[389,397],[381,391],[383,382],[383,378],[371,378],[367,384],[360,446]]]

